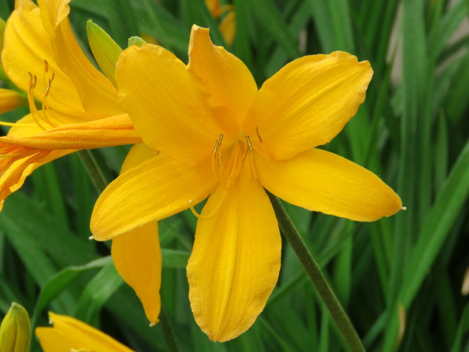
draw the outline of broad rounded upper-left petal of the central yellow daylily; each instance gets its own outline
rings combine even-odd
[[[152,44],[130,46],[117,61],[116,82],[147,145],[192,164],[211,156],[224,132],[215,123],[208,93],[171,52]]]

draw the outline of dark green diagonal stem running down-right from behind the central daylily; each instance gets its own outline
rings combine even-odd
[[[267,193],[270,201],[272,202],[272,206],[274,207],[280,230],[292,246],[299,262],[303,266],[303,269],[306,271],[313,285],[316,287],[322,302],[326,306],[327,310],[329,310],[332,319],[334,319],[345,344],[352,352],[364,352],[365,349],[362,345],[362,341],[360,341],[357,331],[355,331],[339,300],[327,283],[318,263],[316,263],[311,252],[306,247],[306,244],[288,216],[283,204],[280,202],[280,199],[269,192]]]

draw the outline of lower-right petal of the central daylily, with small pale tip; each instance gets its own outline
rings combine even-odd
[[[311,149],[282,161],[255,156],[259,181],[289,203],[357,221],[391,216],[401,198],[378,176],[333,153]]]

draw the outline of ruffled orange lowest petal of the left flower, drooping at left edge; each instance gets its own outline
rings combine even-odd
[[[2,149],[0,144],[0,150]],[[0,158],[0,210],[10,194],[21,188],[27,176],[38,167],[74,150],[42,150],[18,147],[10,151],[10,157]],[[1,154],[4,152],[1,151]]]

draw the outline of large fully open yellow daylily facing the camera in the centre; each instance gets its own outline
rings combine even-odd
[[[195,321],[212,340],[235,338],[264,308],[280,269],[280,233],[264,187],[358,221],[401,209],[378,176],[316,148],[355,115],[372,73],[367,61],[336,51],[295,60],[257,89],[248,68],[195,25],[187,66],[160,46],[129,47],[116,66],[119,98],[144,143],[161,154],[98,198],[94,238],[190,208],[199,218],[187,266]],[[193,205],[208,196],[197,214]]]

